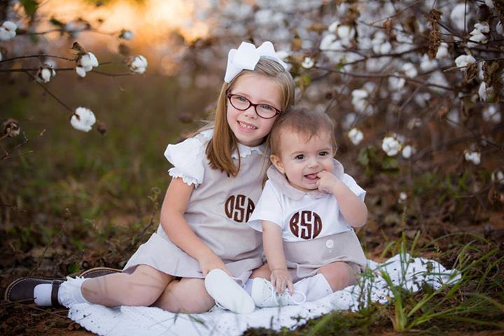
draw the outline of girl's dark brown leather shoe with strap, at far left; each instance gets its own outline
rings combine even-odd
[[[7,302],[34,303],[34,288],[42,283],[52,283],[51,302],[53,307],[61,307],[57,300],[59,285],[64,279],[48,279],[36,276],[26,276],[17,279],[7,286],[4,299]]]

